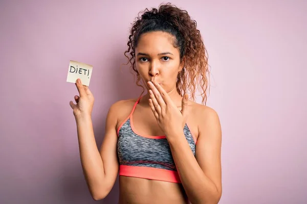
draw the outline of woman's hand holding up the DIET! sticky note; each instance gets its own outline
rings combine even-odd
[[[73,101],[70,101],[69,103],[73,109],[74,116],[91,116],[94,106],[94,96],[89,87],[82,85],[80,79],[76,80],[76,86],[80,95],[75,95],[75,101],[77,104],[74,104]]]

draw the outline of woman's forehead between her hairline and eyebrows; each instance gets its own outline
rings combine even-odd
[[[138,52],[152,55],[163,52],[177,54],[176,50],[179,54],[178,49],[173,46],[173,41],[174,37],[171,34],[161,31],[142,34],[136,47],[136,54]]]

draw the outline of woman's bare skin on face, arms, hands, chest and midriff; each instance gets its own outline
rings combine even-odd
[[[163,32],[140,37],[136,66],[148,93],[140,99],[133,118],[140,134],[166,136],[182,184],[120,176],[119,203],[187,203],[187,197],[192,203],[217,203],[222,195],[220,120],[213,109],[177,92],[177,74],[184,60],[172,42],[173,37]],[[119,169],[117,129],[136,99],[118,101],[109,109],[98,150],[91,120],[93,94],[78,81],[76,86],[80,96],[75,96],[77,104],[71,101],[70,105],[77,122],[81,164],[92,197],[99,200],[115,183]],[[180,131],[185,123],[197,138],[195,157]]]

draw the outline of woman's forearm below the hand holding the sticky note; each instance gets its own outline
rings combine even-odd
[[[98,196],[105,177],[102,158],[97,148],[91,116],[78,117],[77,133],[81,165],[92,196]]]

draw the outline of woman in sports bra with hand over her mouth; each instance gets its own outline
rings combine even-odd
[[[80,96],[77,104],[70,101],[92,197],[103,199],[119,172],[119,203],[217,203],[220,120],[186,94],[194,100],[201,88],[202,103],[207,99],[206,49],[196,22],[170,4],[146,9],[131,28],[125,56],[137,84],[148,91],[111,106],[100,151],[91,120],[93,94],[77,80]]]

